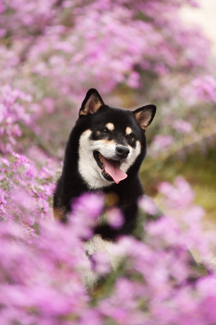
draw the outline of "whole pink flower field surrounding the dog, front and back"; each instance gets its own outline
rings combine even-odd
[[[198,5],[0,1],[0,324],[216,324],[216,66],[179,15]],[[157,106],[141,177],[166,216],[153,220],[144,197],[139,229],[116,247],[121,267],[95,256],[103,280],[88,292],[82,240],[106,198],[81,197],[63,225],[52,193],[91,87],[113,106]]]

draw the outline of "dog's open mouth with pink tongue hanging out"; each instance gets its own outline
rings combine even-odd
[[[93,152],[98,167],[102,170],[102,175],[108,181],[114,181],[116,184],[127,177],[127,174],[120,169],[121,162],[105,158],[99,151]]]

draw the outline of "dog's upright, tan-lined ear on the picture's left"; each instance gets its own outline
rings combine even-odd
[[[79,111],[79,117],[94,114],[102,105],[104,105],[104,102],[98,91],[94,88],[89,89]]]

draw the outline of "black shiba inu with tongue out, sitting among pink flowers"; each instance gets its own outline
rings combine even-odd
[[[143,195],[139,169],[146,156],[145,131],[156,106],[134,111],[104,104],[96,89],[90,89],[79,118],[67,141],[62,175],[54,192],[55,217],[66,221],[71,201],[84,192],[112,193],[124,224],[118,230],[108,225],[95,227],[103,240],[131,234],[136,226],[137,201]]]

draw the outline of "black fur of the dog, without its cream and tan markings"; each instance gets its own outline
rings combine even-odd
[[[85,110],[86,103],[92,94],[94,95],[93,104],[96,103],[97,107],[101,105],[95,112],[92,109],[92,103],[89,110]],[[151,113],[148,123],[150,124],[153,120],[156,107],[154,105],[147,105],[146,108]],[[82,115],[84,110],[85,114]],[[131,234],[136,226],[137,201],[144,193],[138,173],[142,161],[146,156],[145,131],[141,128],[135,115],[140,110],[145,110],[145,107],[132,112],[105,105],[97,91],[90,89],[80,109],[79,118],[67,141],[62,175],[57,181],[53,198],[53,207],[54,209],[57,208],[63,211],[63,220],[66,220],[66,214],[71,211],[72,199],[80,196],[84,192],[89,192],[85,181],[78,172],[79,138],[85,130],[90,129],[92,131],[91,139],[93,140],[103,138],[107,140],[114,139],[122,146],[129,144],[131,147],[135,146],[136,140],[139,140],[141,143],[141,152],[134,164],[127,171],[128,177],[120,181],[119,184],[112,183],[111,186],[102,188],[104,193],[112,192],[118,196],[118,207],[121,209],[125,218],[124,225],[118,230],[108,225],[95,228],[95,233],[101,234],[101,237],[106,240],[114,240],[119,234]],[[98,132],[98,130],[104,128],[106,123],[109,122],[115,124],[115,130],[112,134],[101,134]],[[133,139],[128,139],[125,136],[127,126],[132,129]],[[94,192],[97,192],[97,190],[94,190]]]

